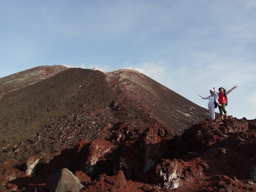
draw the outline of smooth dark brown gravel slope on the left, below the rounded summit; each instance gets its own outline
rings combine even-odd
[[[102,72],[70,68],[11,92],[0,102],[0,140],[28,140],[49,118],[109,106],[114,92]]]

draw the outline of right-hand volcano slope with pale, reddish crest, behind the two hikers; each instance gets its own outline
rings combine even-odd
[[[136,70],[106,73],[110,86],[118,93],[116,107],[143,110],[150,118],[181,134],[192,124],[209,118],[209,112]],[[122,103],[124,103],[122,105]],[[122,105],[119,107],[119,105]],[[126,116],[126,115],[124,115]]]

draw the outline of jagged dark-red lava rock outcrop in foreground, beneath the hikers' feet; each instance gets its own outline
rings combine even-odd
[[[232,119],[230,121],[232,124],[236,122],[241,124],[244,120]],[[248,123],[247,120],[246,123]],[[166,138],[158,136],[161,133],[157,127],[149,126],[138,138],[126,136],[125,140],[118,142],[107,142],[99,138],[91,142],[81,140],[74,148],[63,150],[60,155],[44,166],[58,169],[61,164],[63,166],[66,164],[70,169],[77,170],[76,175],[85,186],[82,191],[133,192],[142,191],[142,189],[168,191],[174,188],[178,192],[243,189],[253,191],[254,185],[251,185],[251,182],[247,183],[247,180],[255,176],[254,132],[241,130],[236,134],[234,132],[226,134],[225,126],[226,123],[209,124],[208,121],[194,125],[191,130],[195,133],[200,130],[204,137],[198,138],[198,134],[188,134],[191,130],[187,130],[180,137],[169,140],[171,149],[169,149],[168,159],[162,156],[166,150],[164,147],[167,142]],[[219,140],[214,137],[216,132],[224,139]],[[238,137],[244,138],[244,135],[248,136],[247,140],[237,139]],[[200,139],[200,142],[195,138]],[[212,142],[212,145],[204,142],[204,140],[214,138],[216,140]],[[182,145],[180,141],[183,141],[185,145]],[[194,150],[192,153],[191,148]],[[183,154],[175,153],[178,150]],[[106,153],[108,155],[104,157]],[[177,158],[172,158],[174,154],[178,154]],[[153,163],[147,166],[150,159]],[[248,163],[244,164],[244,161]],[[90,162],[93,162],[93,165]],[[88,166],[93,172],[88,171]],[[84,171],[91,174],[94,178],[93,182],[90,182],[90,176]],[[40,174],[46,174],[46,172],[40,172]],[[125,179],[126,176],[129,181]],[[35,174],[35,178],[37,177],[39,174]],[[145,186],[144,183],[149,186]]]

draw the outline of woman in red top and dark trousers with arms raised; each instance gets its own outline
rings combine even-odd
[[[224,120],[223,112],[225,113],[225,119],[228,118],[228,113],[225,110],[225,106],[226,106],[226,96],[225,95],[229,94],[232,90],[234,90],[237,87],[238,86],[236,85],[233,88],[231,88],[230,90],[228,90],[227,92],[226,92],[226,90],[223,87],[219,88],[219,92],[216,91],[215,87],[213,88],[215,94],[219,96],[218,102],[220,103],[220,105],[218,107],[219,107],[219,110],[220,110],[220,116],[221,116],[222,120]]]

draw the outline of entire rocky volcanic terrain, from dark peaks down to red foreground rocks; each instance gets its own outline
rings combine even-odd
[[[256,120],[211,122],[134,70],[55,69],[0,78],[0,191],[256,191]]]

